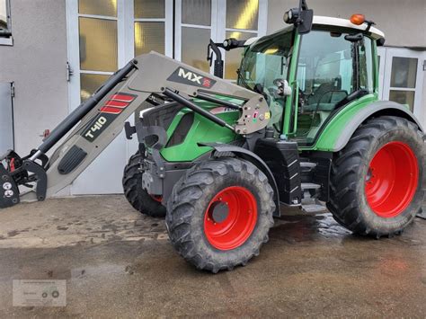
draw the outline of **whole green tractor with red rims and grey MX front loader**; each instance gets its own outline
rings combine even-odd
[[[314,16],[305,0],[284,21],[261,38],[210,40],[215,75],[156,52],[134,58],[30,155],[0,159],[0,208],[63,189],[124,125],[138,137],[126,198],[165,217],[174,248],[200,270],[258,255],[280,206],[321,203],[354,234],[401,234],[422,209],[425,135],[406,105],[378,101],[384,33],[362,14]],[[222,50],[238,48],[233,84]]]

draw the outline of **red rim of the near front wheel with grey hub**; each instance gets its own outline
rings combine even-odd
[[[217,205],[226,208],[223,221],[215,220]],[[253,193],[244,187],[231,186],[210,200],[204,215],[204,233],[215,248],[227,251],[235,249],[252,235],[257,222],[257,201]]]

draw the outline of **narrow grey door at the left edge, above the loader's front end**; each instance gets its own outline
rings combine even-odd
[[[13,149],[12,84],[0,82],[0,155]]]

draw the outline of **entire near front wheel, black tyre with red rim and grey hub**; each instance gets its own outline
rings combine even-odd
[[[221,158],[176,183],[166,225],[174,248],[198,269],[231,270],[259,254],[273,225],[273,191],[253,164]]]

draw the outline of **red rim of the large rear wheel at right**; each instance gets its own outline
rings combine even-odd
[[[419,166],[412,148],[402,142],[387,143],[368,167],[368,205],[379,217],[396,217],[412,202],[418,182]]]

